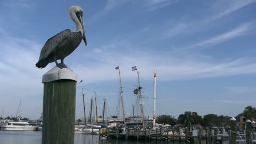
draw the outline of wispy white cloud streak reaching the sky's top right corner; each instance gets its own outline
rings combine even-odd
[[[229,14],[235,13],[237,10],[240,10],[241,8],[255,2],[256,0],[214,1],[212,8],[210,8],[212,11],[205,11],[205,13],[207,13],[206,17],[203,17],[202,19],[181,19],[174,21],[174,23],[177,24],[168,26],[168,29],[164,32],[163,37],[168,38],[180,34],[199,32],[203,27],[208,27],[210,23]],[[228,5],[228,7],[226,7],[226,5]]]

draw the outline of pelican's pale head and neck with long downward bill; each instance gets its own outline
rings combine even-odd
[[[85,31],[84,31],[84,11],[79,6],[71,6],[69,9],[69,15],[71,19],[75,22],[75,25],[77,26],[77,32],[81,32],[83,35],[84,43],[87,45],[86,37],[85,37]]]

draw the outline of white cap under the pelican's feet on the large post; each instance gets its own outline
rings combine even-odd
[[[43,75],[42,83],[57,80],[74,80],[77,81],[77,74],[69,68],[59,68],[55,66]]]

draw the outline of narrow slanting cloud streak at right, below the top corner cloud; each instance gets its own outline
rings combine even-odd
[[[254,23],[255,22],[244,23],[243,25],[238,26],[229,32],[217,35],[216,37],[213,37],[211,39],[204,40],[200,43],[191,45],[187,49],[194,49],[196,47],[202,47],[210,44],[219,44],[219,43],[222,43],[223,41],[227,41],[227,40],[239,37],[241,35],[245,35],[247,32],[249,32],[249,30],[252,28]]]

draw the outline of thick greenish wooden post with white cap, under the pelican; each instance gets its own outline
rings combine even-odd
[[[43,144],[74,143],[77,74],[54,67],[43,75]]]

